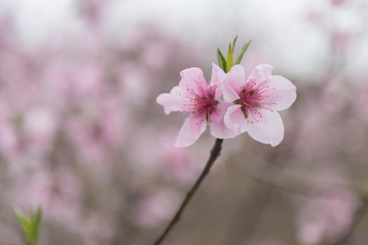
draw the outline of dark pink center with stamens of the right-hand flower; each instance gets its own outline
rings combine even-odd
[[[270,87],[267,80],[258,84],[255,80],[249,80],[241,89],[241,92],[238,94],[240,98],[234,103],[242,106],[245,118],[248,118],[251,123],[254,121],[258,122],[259,118],[262,118],[262,113],[259,109],[267,109],[267,106],[275,104],[270,102],[268,95],[270,91],[275,90],[275,87]]]

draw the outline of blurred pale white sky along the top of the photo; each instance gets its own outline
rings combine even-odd
[[[29,47],[55,31],[83,28],[74,0],[0,1],[1,12],[15,14],[18,31]],[[329,0],[112,0],[103,29],[111,40],[129,41],[139,31],[138,23],[150,22],[206,51],[217,46],[225,50],[239,34],[239,41],[253,39],[254,48],[270,57],[268,61],[295,76],[318,76],[329,57],[329,31],[347,30],[359,37],[348,52],[352,62],[346,72],[352,73],[367,67],[367,2],[350,0],[332,7]],[[311,13],[324,24],[308,22]]]

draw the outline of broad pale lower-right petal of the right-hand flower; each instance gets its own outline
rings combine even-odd
[[[248,134],[263,144],[277,146],[284,139],[284,124],[280,114],[265,109],[258,111],[262,113],[262,118],[258,118],[258,122],[248,123]]]

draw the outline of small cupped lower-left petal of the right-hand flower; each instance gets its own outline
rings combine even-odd
[[[235,104],[229,106],[223,118],[226,127],[235,132],[244,133],[248,129],[248,120],[245,118],[242,111],[242,106]]]

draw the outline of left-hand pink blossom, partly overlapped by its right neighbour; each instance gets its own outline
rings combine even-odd
[[[175,146],[190,146],[206,130],[209,124],[210,132],[214,137],[228,139],[237,136],[225,126],[223,116],[231,103],[220,102],[222,96],[219,87],[225,72],[216,64],[212,64],[210,84],[206,83],[203,71],[197,67],[180,72],[181,80],[178,86],[173,87],[170,94],[159,94],[157,103],[164,106],[168,115],[171,111],[190,112],[180,129]]]

